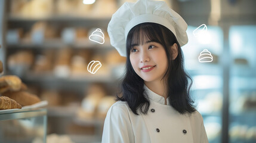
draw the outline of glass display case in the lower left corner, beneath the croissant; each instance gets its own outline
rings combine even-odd
[[[0,110],[0,141],[45,143],[47,109]]]

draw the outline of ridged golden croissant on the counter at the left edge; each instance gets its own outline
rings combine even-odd
[[[0,97],[0,110],[21,108],[21,105],[8,97]]]

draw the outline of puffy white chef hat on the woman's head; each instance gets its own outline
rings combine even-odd
[[[180,46],[187,43],[187,23],[164,1],[138,0],[135,3],[125,2],[112,15],[107,27],[110,43],[119,54],[126,57],[126,40],[129,30],[140,23],[158,23],[176,36]]]

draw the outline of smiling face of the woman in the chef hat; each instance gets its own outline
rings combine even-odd
[[[147,38],[143,44],[132,43],[129,58],[134,71],[144,81],[160,81],[168,67],[167,56],[161,43],[152,42]]]

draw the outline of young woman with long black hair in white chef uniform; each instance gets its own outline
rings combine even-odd
[[[127,57],[127,67],[102,142],[208,142],[183,69],[186,29],[183,18],[161,1],[127,2],[113,14],[110,42]]]

